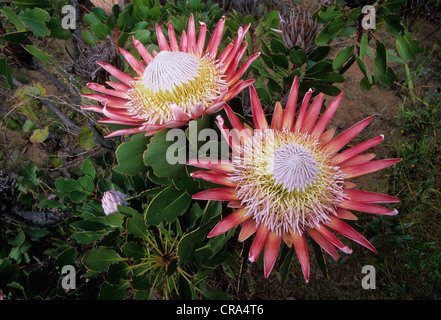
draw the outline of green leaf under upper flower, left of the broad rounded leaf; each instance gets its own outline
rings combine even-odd
[[[133,135],[128,142],[122,143],[116,149],[118,165],[114,168],[121,174],[134,176],[147,171],[143,162],[143,154],[147,148],[150,138],[144,133]]]

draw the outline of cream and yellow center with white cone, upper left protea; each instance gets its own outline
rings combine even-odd
[[[220,70],[209,56],[161,51],[127,91],[128,110],[149,124],[177,120],[172,107],[191,117],[195,107],[207,109],[228,89]]]

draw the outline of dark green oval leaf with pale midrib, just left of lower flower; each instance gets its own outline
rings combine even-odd
[[[148,224],[159,225],[162,221],[175,221],[184,214],[191,203],[191,197],[185,192],[168,186],[150,202],[145,217]]]

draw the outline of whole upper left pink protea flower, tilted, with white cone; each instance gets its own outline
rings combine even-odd
[[[159,52],[151,55],[144,45],[133,39],[135,48],[144,63],[124,49],[120,52],[136,72],[127,75],[115,67],[98,62],[121,82],[107,82],[113,89],[89,83],[87,87],[100,94],[83,96],[99,101],[103,106],[83,107],[103,113],[102,123],[130,125],[131,128],[114,131],[106,137],[145,132],[152,135],[163,128],[177,128],[202,114],[212,114],[254,80],[242,81],[241,77],[259,56],[256,53],[240,67],[240,60],[247,44],[242,44],[249,25],[240,27],[236,39],[218,55],[225,24],[223,17],[211,35],[207,47],[207,27],[200,22],[199,36],[191,15],[188,30],[182,32],[178,44],[171,22],[168,24],[167,42],[156,25]]]

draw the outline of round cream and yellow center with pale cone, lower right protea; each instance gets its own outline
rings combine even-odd
[[[256,130],[233,158],[237,196],[256,224],[302,234],[336,214],[344,178],[331,155],[308,134]]]

